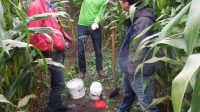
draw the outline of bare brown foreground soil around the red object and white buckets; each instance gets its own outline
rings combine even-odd
[[[95,102],[90,99],[90,97],[87,95],[88,92],[86,92],[86,95],[81,99],[76,99],[76,100],[70,99],[70,98],[65,99],[66,104],[77,105],[76,109],[69,110],[67,112],[116,112],[121,95],[117,95],[113,99],[109,99],[107,97],[109,96],[110,92],[112,92],[112,90],[104,90],[104,93],[103,93],[104,95],[103,97],[105,98],[103,98],[102,100],[106,102],[106,105],[107,105],[106,109],[97,109],[95,107]],[[47,102],[48,101],[47,99],[43,99],[43,101]],[[38,110],[35,110],[35,112],[47,112],[46,106],[44,106],[43,108],[39,108]]]

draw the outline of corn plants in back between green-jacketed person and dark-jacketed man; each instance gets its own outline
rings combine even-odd
[[[105,48],[111,48],[111,29],[112,27],[116,27],[116,43],[117,47],[121,45],[123,42],[123,38],[125,36],[125,27],[124,27],[124,19],[126,12],[121,9],[121,6],[117,2],[117,0],[108,0],[107,8],[102,20],[103,26],[103,37]]]

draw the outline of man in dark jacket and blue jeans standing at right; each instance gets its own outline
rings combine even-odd
[[[135,3],[140,4],[140,0],[120,0],[119,3],[122,6],[123,10],[129,12],[130,6]],[[144,29],[151,26],[154,22],[155,15],[153,13],[153,10],[148,6],[136,8],[136,11],[134,12],[133,22],[130,18],[126,19],[124,22],[127,31],[126,37],[119,53],[119,65],[124,78],[123,98],[121,100],[118,112],[130,112],[131,106],[136,98],[138,99],[138,102],[143,111],[158,111],[156,106],[151,106],[147,109],[147,106],[151,104],[154,95],[152,90],[152,83],[146,85],[146,87],[144,86],[152,79],[153,65],[144,64],[143,69],[135,73],[136,67],[144,60],[150,59],[152,53],[147,53],[149,49],[143,48],[140,51],[137,59],[133,62],[133,56],[140,42],[147,36],[155,33],[155,31],[147,32],[144,36],[140,37],[139,41],[137,41],[133,45],[133,48],[130,48],[131,41]]]

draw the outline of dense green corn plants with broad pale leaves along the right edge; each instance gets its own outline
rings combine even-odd
[[[165,76],[169,76],[171,100],[174,112],[191,111],[199,112],[198,98],[199,96],[199,1],[178,1],[180,5],[173,9],[173,17],[162,18],[158,23],[162,26],[161,31],[154,36],[147,37],[141,42],[137,50],[144,47],[154,48],[154,54],[159,49],[164,51],[164,56],[154,57],[144,63],[154,63],[163,61],[166,64],[167,72]],[[163,21],[166,22],[163,25]],[[139,34],[138,38],[145,33]],[[155,38],[156,37],[156,38]],[[137,38],[133,41],[134,44]],[[138,66],[139,70],[142,64]],[[159,73],[158,73],[159,74]],[[161,74],[162,75],[162,74]],[[159,76],[161,76],[159,75]],[[160,81],[162,84],[164,80]],[[187,96],[192,96],[192,98]],[[185,103],[188,106],[185,106]]]

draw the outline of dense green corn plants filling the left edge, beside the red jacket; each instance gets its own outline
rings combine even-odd
[[[13,104],[0,104],[5,112],[21,110],[21,107],[16,108],[14,104],[31,92],[37,93],[32,91],[36,78],[41,71],[47,71],[47,63],[54,63],[44,59],[41,51],[29,44],[29,38],[32,33],[43,33],[51,40],[48,33],[57,31],[48,27],[28,28],[28,23],[49,17],[68,18],[68,14],[61,11],[28,17],[26,10],[30,2],[31,0],[0,0],[0,94]],[[38,55],[42,61],[36,60]],[[56,66],[62,65],[56,63]],[[27,106],[23,106],[23,109],[27,110]]]

